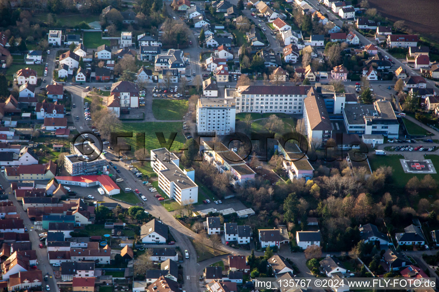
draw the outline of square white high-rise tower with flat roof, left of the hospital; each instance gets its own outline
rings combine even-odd
[[[236,106],[234,99],[201,98],[197,104],[198,133],[217,135],[234,133]]]

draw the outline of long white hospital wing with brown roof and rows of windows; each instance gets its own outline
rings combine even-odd
[[[311,86],[246,85],[233,91],[237,113],[303,113]]]

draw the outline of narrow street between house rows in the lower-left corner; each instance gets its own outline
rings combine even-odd
[[[47,255],[47,249],[46,248],[40,248],[39,244],[40,242],[40,236],[39,231],[35,230],[33,226],[33,222],[30,221],[29,216],[27,213],[23,210],[23,206],[21,202],[18,202],[11,191],[11,183],[8,182],[3,174],[0,175],[0,183],[2,186],[5,187],[5,194],[9,196],[9,201],[12,201],[14,203],[14,206],[17,207],[17,212],[20,214],[20,218],[23,219],[25,227],[28,229],[29,233],[29,240],[32,243],[32,249],[36,251],[36,256],[38,258],[38,268],[43,272],[43,276],[45,274],[49,275],[48,281],[43,281],[43,286],[49,285],[50,291],[59,292],[58,286],[55,284],[55,278],[53,277],[53,269],[49,264],[49,257]]]

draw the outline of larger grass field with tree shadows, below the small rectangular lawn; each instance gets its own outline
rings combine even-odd
[[[145,122],[145,123],[122,123],[122,128],[118,129],[124,132],[133,132],[133,137],[124,138],[128,144],[131,145],[132,151],[136,151],[136,135],[135,133],[145,133],[145,148],[147,151],[152,149],[162,148],[165,145],[160,145],[155,132],[163,132],[166,142],[169,140],[171,133],[177,133],[175,140],[171,145],[171,151],[179,151],[183,147],[186,138],[181,133],[182,122]],[[169,147],[169,144],[166,144]]]

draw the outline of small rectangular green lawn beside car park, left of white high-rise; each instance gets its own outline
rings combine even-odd
[[[187,100],[152,100],[152,113],[157,120],[183,120],[187,107]]]

